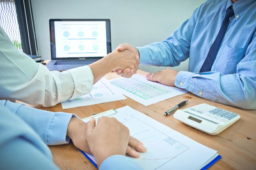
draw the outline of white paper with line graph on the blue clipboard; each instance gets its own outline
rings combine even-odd
[[[129,106],[117,109],[110,117],[115,117],[128,127],[130,135],[147,148],[147,152],[141,153],[139,158],[130,157],[143,169],[201,169],[218,156],[216,150],[193,141]],[[92,155],[90,157],[93,159]]]

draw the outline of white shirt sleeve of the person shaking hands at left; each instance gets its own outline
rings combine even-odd
[[[1,27],[0,58],[1,98],[54,106],[92,90],[93,74],[89,66],[63,72],[49,71],[20,52]]]

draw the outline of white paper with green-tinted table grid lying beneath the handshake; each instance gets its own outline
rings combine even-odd
[[[116,85],[124,95],[145,106],[187,92],[176,87],[148,81],[145,76],[140,74],[134,74],[131,78],[122,77],[109,81],[111,84]]]

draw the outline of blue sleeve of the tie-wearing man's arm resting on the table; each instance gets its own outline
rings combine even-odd
[[[235,74],[180,71],[175,86],[210,101],[256,110],[256,34]]]

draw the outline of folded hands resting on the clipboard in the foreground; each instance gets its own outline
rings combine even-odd
[[[139,152],[146,152],[143,143],[129,136],[127,127],[115,118],[101,117],[95,125],[94,118],[86,124],[72,117],[67,136],[77,148],[92,153],[98,165],[111,155],[127,153],[131,157],[140,157]]]

